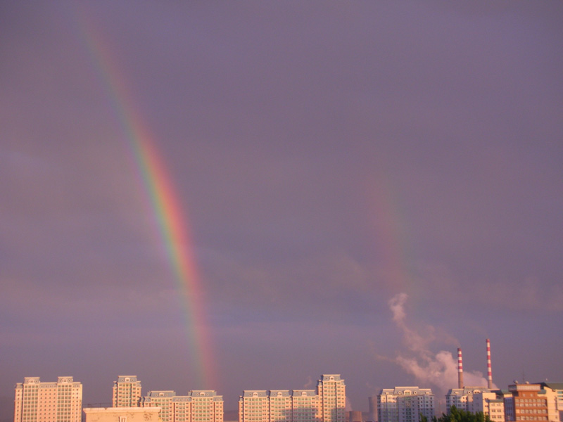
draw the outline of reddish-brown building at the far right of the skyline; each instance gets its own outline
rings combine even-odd
[[[560,421],[555,390],[530,383],[509,385],[508,390],[512,397],[505,398],[506,421]]]

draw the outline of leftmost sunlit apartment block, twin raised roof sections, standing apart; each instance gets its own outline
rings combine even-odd
[[[82,384],[72,376],[60,376],[56,383],[42,383],[26,377],[15,385],[14,422],[80,422]]]

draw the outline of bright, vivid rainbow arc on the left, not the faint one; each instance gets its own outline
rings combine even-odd
[[[80,32],[88,46],[93,63],[110,97],[116,117],[127,138],[141,184],[151,203],[160,240],[165,245],[167,260],[172,267],[181,296],[187,328],[191,364],[201,388],[215,388],[213,350],[203,309],[203,290],[191,250],[188,226],[179,205],[177,193],[158,153],[154,137],[137,113],[127,83],[99,31],[81,14]],[[194,388],[198,389],[198,388]]]

